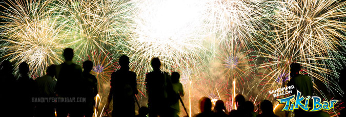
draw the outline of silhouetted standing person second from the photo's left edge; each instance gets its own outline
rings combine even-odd
[[[17,91],[18,97],[21,99],[17,100],[21,106],[22,112],[19,112],[19,116],[33,116],[34,105],[31,102],[31,98],[34,97],[36,91],[35,82],[33,79],[29,78],[29,65],[26,62],[22,62],[18,66],[20,77],[17,79]]]

